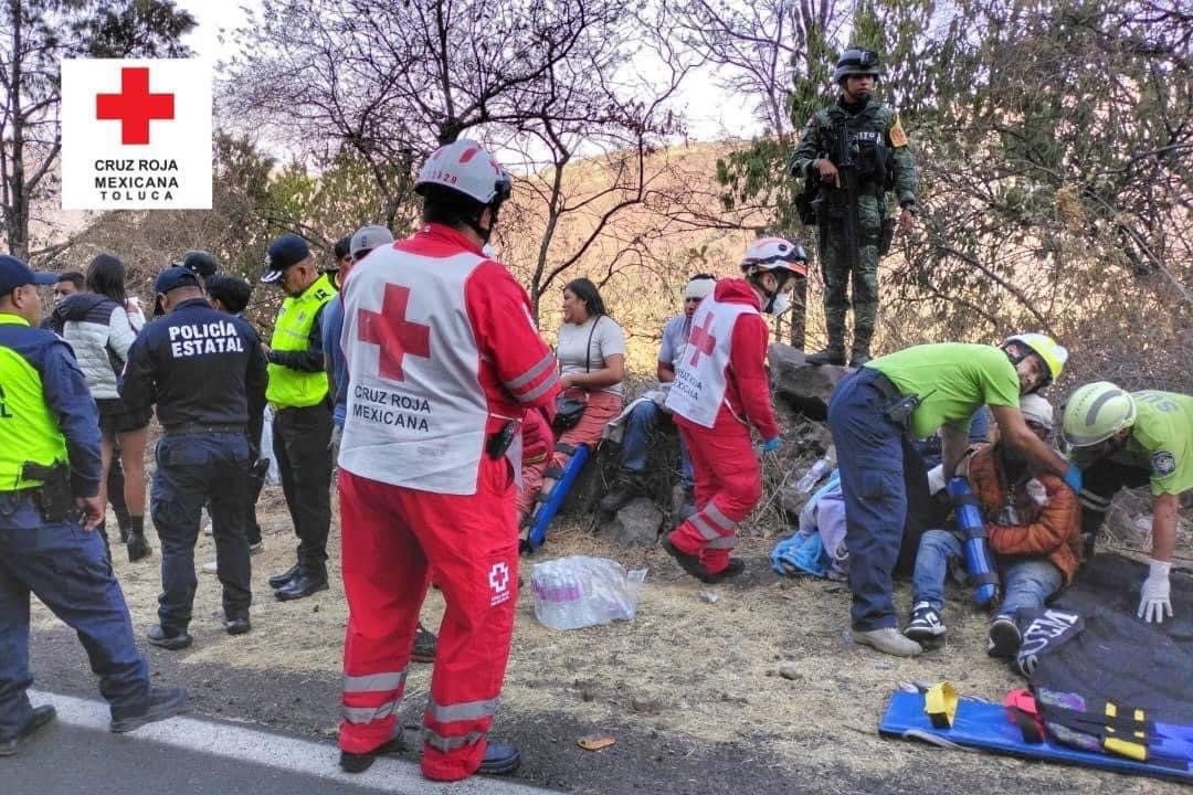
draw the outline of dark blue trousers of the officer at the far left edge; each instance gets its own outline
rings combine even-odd
[[[104,539],[64,520],[44,523],[32,499],[0,493],[0,739],[29,721],[29,595],[79,634],[113,718],[143,708],[149,669],[137,651]]]

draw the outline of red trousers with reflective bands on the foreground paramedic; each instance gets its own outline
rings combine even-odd
[[[481,460],[477,493],[403,489],[340,470],[344,720],[340,749],[366,753],[401,731],[419,609],[432,577],[447,608],[424,719],[422,774],[476,772],[501,694],[518,597],[518,528],[506,459]]]

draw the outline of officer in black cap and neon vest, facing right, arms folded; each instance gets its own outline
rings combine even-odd
[[[335,296],[330,277],[298,235],[270,244],[261,281],[280,284],[286,299],[278,311],[270,360],[273,456],[298,535],[298,560],[270,577],[279,600],[327,590],[327,534],[332,527],[332,400],[323,369],[323,306]]]

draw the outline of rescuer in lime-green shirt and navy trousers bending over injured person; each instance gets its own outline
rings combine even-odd
[[[845,496],[854,642],[898,657],[922,648],[896,628],[891,573],[907,521],[908,484],[922,461],[913,439],[944,436],[944,470],[969,447],[970,417],[990,406],[1002,445],[1053,472],[1075,492],[1081,471],[1037,436],[1019,410],[1021,395],[1061,375],[1068,352],[1044,334],[1019,334],[996,348],[945,342],[905,348],[846,375],[828,406]]]

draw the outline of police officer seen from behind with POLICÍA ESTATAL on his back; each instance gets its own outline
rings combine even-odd
[[[156,403],[163,429],[149,496],[162,548],[160,623],[147,636],[178,650],[191,645],[194,541],[204,503],[211,510],[224,628],[233,635],[249,631],[247,426],[265,410],[265,355],[248,323],[212,309],[193,271],[166,268],[154,288],[166,317],[129,349],[120,397],[138,408]]]

